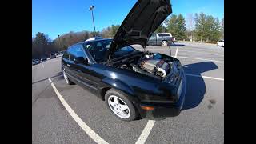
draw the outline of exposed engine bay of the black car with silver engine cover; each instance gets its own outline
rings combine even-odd
[[[117,67],[162,79],[169,74],[172,63],[170,59],[161,58],[157,53],[148,52],[135,58],[124,59]]]

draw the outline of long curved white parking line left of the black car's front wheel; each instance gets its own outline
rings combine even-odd
[[[74,110],[69,106],[68,103],[66,103],[65,99],[62,98],[62,95],[58,92],[57,88],[54,86],[54,83],[49,78],[49,82],[51,82],[51,86],[54,89],[54,92],[57,94],[59,100],[62,102],[62,105],[66,108],[68,113],[71,115],[72,118],[74,118],[74,121],[78,123],[78,125],[92,138],[96,143],[108,143],[103,138],[101,138],[98,134],[94,132],[94,130],[90,129],[89,126],[86,125],[85,122],[82,121],[81,118],[78,117],[78,114],[75,114]]]

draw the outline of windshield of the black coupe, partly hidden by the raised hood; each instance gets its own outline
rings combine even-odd
[[[94,58],[96,62],[103,62],[104,58],[106,57],[107,50],[110,49],[110,44],[112,42],[112,39],[102,40],[102,41],[96,41],[96,42],[88,42],[85,44],[85,49],[89,50],[90,54]],[[136,51],[131,46],[125,46],[121,49],[118,49],[114,52],[111,58],[118,58],[126,54],[130,54],[132,52]]]

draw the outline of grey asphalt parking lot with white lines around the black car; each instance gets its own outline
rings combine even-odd
[[[224,48],[178,42],[147,50],[169,48],[186,72],[186,101],[161,121],[115,118],[90,91],[66,85],[60,57],[32,66],[32,143],[224,143]]]

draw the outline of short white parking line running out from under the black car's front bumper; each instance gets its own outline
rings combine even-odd
[[[146,142],[146,138],[150,135],[150,131],[152,130],[154,126],[154,120],[149,120],[146,123],[145,128],[142,131],[142,134],[139,136],[137,142],[135,144],[142,144]]]

